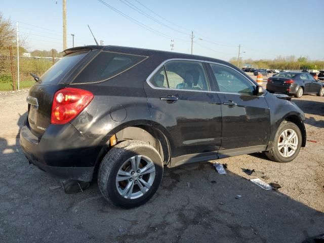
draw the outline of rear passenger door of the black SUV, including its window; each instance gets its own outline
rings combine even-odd
[[[170,134],[172,157],[219,149],[220,100],[216,93],[210,92],[203,63],[170,60],[159,66],[147,81],[144,89],[152,120]]]

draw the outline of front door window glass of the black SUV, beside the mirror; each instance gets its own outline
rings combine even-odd
[[[255,86],[235,70],[217,64],[211,64],[211,67],[220,92],[240,94],[254,93]]]

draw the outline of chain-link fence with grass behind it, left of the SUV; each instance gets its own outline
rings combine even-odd
[[[19,53],[19,72],[17,47],[9,46],[0,49],[0,91],[29,88],[35,83],[30,73],[43,75],[62,55],[50,52]]]

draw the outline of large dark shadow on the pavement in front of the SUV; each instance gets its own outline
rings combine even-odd
[[[20,149],[1,156],[4,242],[301,242],[323,233],[323,213],[235,174],[219,175],[210,163],[166,168],[147,204],[123,210],[104,200],[96,182],[67,195],[50,190],[60,181],[28,165]]]

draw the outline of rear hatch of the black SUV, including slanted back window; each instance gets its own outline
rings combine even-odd
[[[69,76],[84,62],[89,50],[71,53],[48,69],[29,90],[28,124],[31,132],[42,137],[51,123],[54,94],[66,87]]]

